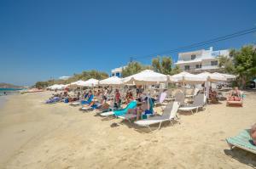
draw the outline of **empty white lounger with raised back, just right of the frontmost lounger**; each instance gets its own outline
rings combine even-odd
[[[178,108],[178,110],[186,111],[186,112],[189,111],[192,114],[194,113],[193,110],[195,110],[195,112],[197,113],[198,110],[204,106],[204,98],[205,98],[204,94],[199,93],[195,96],[193,104],[180,107]]]

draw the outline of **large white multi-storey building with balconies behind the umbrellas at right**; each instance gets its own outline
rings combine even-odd
[[[199,73],[201,71],[222,71],[218,67],[218,56],[229,57],[229,50],[213,51],[212,47],[209,50],[201,49],[192,52],[179,53],[178,60],[175,65],[178,65],[181,70],[191,73]]]

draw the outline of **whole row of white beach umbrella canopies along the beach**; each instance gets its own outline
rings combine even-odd
[[[152,85],[166,82],[174,82],[174,83],[203,83],[203,82],[225,82],[229,79],[235,79],[236,76],[221,74],[221,73],[209,73],[203,72],[201,74],[191,74],[189,72],[181,72],[179,74],[173,76],[166,76],[164,74],[160,74],[154,72],[153,70],[143,70],[135,75],[128,76],[125,78],[119,78],[117,76],[108,77],[102,81],[98,81],[96,79],[89,79],[87,81],[77,81],[72,82],[67,85],[53,85],[49,88],[51,89],[61,89],[65,87],[95,87],[98,85]]]

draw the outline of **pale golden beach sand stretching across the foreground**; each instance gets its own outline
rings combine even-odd
[[[256,122],[256,93],[246,94],[243,108],[207,105],[154,132],[43,104],[49,92],[13,95],[0,110],[0,168],[252,168],[256,155],[225,142]]]

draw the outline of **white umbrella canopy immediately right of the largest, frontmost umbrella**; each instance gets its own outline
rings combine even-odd
[[[183,71],[176,75],[170,76],[170,80],[174,82],[176,81],[176,82],[183,82],[183,83],[201,83],[201,82],[206,82],[207,78]]]

